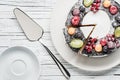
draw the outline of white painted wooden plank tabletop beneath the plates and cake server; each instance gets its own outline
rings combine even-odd
[[[70,65],[55,50],[50,37],[50,14],[57,0],[0,0],[0,53],[11,46],[27,46],[41,57],[40,80],[65,80],[46,50],[38,42],[29,42],[19,27],[13,9],[18,7],[43,26],[43,41],[70,71],[70,80],[120,80],[120,65],[104,74],[81,71]]]

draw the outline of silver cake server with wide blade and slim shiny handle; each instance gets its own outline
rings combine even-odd
[[[38,25],[34,20],[32,20],[26,13],[24,13],[19,8],[14,9],[14,14],[17,18],[19,25],[21,26],[26,37],[28,38],[28,40],[39,41],[40,38],[42,38],[44,31],[40,25]],[[62,74],[67,79],[69,79],[70,73],[67,71],[67,69],[60,63],[60,61],[53,55],[53,53],[43,43],[41,43],[41,44],[44,46],[44,48],[50,54],[52,59],[55,61],[55,63],[57,64],[57,66],[60,69],[60,71],[62,72]]]

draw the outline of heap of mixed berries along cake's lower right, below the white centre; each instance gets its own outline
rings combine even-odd
[[[89,38],[88,43],[85,46],[84,52],[86,54],[93,54],[97,52],[98,54],[104,53],[108,54],[112,52],[115,48],[120,47],[120,42],[115,38],[114,35],[108,34],[104,38],[98,41],[97,38]]]

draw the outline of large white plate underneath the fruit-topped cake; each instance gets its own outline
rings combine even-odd
[[[86,71],[103,71],[111,69],[120,63],[120,49],[104,58],[88,58],[75,54],[66,44],[62,29],[72,6],[78,0],[59,0],[51,20],[52,41],[59,54],[70,64]],[[120,3],[119,0],[116,0]]]

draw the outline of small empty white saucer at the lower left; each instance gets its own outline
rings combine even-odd
[[[40,64],[36,55],[25,47],[12,47],[0,56],[0,80],[38,80]]]

